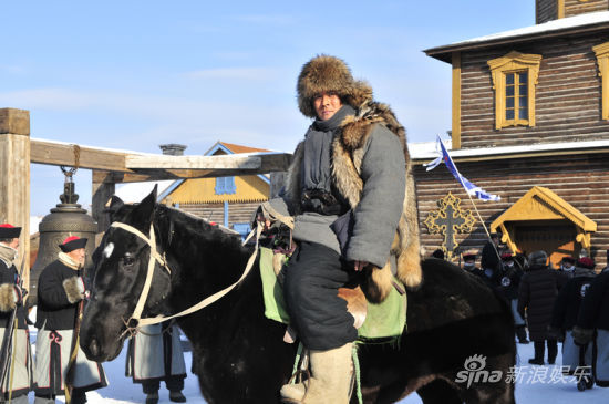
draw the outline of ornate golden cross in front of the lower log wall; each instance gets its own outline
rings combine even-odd
[[[447,260],[454,256],[458,242],[455,235],[458,232],[469,232],[476,222],[469,209],[461,208],[461,199],[448,191],[448,194],[437,200],[440,207],[436,211],[431,211],[427,215],[424,224],[427,226],[430,234],[441,234],[444,236],[441,249]]]

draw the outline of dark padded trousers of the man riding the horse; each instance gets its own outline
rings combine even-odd
[[[338,289],[353,280],[355,272],[338,252],[300,242],[282,271],[290,324],[304,346],[326,351],[355,341],[353,317],[338,297]]]

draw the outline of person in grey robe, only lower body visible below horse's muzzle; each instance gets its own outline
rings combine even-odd
[[[186,364],[179,340],[179,329],[172,320],[142,327],[128,341],[126,376],[141,383],[146,404],[158,403],[161,382],[169,391],[169,400],[185,403],[182,394]]]

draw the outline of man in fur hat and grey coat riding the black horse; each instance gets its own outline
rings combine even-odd
[[[262,211],[293,217],[298,247],[283,266],[290,324],[310,351],[312,379],[281,389],[286,402],[347,403],[358,332],[338,288],[359,279],[380,302],[393,272],[421,283],[419,222],[405,130],[340,59],[307,62],[297,83],[313,120],[297,146],[281,198]],[[268,217],[258,217],[266,221]]]

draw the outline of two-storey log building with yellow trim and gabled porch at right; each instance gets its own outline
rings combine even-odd
[[[512,250],[590,255],[609,249],[609,0],[537,0],[537,24],[426,50],[452,64],[451,156],[461,174],[500,201],[476,201]],[[450,191],[474,206],[436,155],[412,152],[422,242],[446,246],[425,226]],[[477,215],[475,215],[477,219]],[[455,228],[456,229],[456,228]],[[482,248],[479,220],[455,231],[461,250]],[[451,246],[452,247],[452,246]],[[454,252],[454,251],[450,251]],[[456,255],[455,255],[456,256]]]

